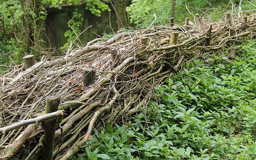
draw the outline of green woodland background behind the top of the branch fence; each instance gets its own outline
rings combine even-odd
[[[0,72],[3,72],[10,65],[21,64],[22,57],[25,55],[34,54],[38,60],[43,55],[54,55],[56,51],[58,55],[63,55],[62,53],[67,51],[70,42],[74,39],[76,41],[73,43],[77,45],[86,44],[87,42],[81,42],[79,37],[76,38],[87,32],[82,26],[86,19],[82,16],[83,10],[90,11],[95,17],[108,12],[109,15],[115,15],[114,22],[110,22],[110,18],[107,22],[111,29],[108,32],[94,33],[92,37],[96,38],[112,36],[120,29],[133,31],[134,27],[146,28],[153,21],[154,14],[157,17],[155,25],[167,24],[169,17],[172,16],[175,16],[175,22],[179,23],[185,17],[193,17],[192,14],[196,13],[214,21],[223,17],[222,14],[227,9],[235,10],[242,6],[244,10],[248,10],[255,6],[256,2],[238,0],[0,0],[0,4]],[[73,9],[67,17],[67,30],[64,32],[65,43],[56,48],[49,48],[46,44],[51,42],[45,34],[45,19],[51,16],[51,12],[70,7]],[[78,10],[81,7],[82,11]],[[114,25],[111,26],[111,23]],[[104,27],[107,28],[107,26]]]

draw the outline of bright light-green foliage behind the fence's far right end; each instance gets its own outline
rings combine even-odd
[[[127,7],[127,11],[130,14],[130,21],[138,27],[145,28],[149,26],[150,23],[152,23],[154,19],[154,14],[156,14],[156,25],[167,24],[170,17],[170,11],[172,6],[171,3],[172,0],[133,0],[132,4]],[[254,4],[254,6],[251,3]],[[196,13],[199,13],[200,15],[212,19],[212,21],[215,21],[216,19],[223,18],[223,13],[227,9],[232,9],[232,5],[238,6],[238,4],[238,0],[176,0],[175,22],[184,22],[185,17],[190,17],[191,19],[193,19],[194,17],[189,14],[188,10],[194,15]],[[243,10],[254,9],[255,5],[255,1],[252,1],[250,3],[243,1],[241,8]],[[235,9],[237,10],[237,8]]]

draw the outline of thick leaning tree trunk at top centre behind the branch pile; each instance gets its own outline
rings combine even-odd
[[[115,10],[116,19],[117,19],[117,27],[118,29],[123,28],[125,26],[129,26],[129,16],[126,11],[127,0],[113,0],[114,5],[113,8]]]

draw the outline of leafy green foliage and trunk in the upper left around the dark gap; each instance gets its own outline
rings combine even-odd
[[[33,6],[22,8],[22,1],[19,0],[0,2],[0,64],[5,65],[9,65],[12,62],[20,64],[22,63],[22,57],[31,53],[34,53],[36,58],[40,58],[41,47],[44,44],[42,40],[43,22],[47,16],[45,6],[50,5],[50,8],[61,9],[62,4],[81,5],[84,3],[82,0],[24,1],[28,4],[33,3]],[[85,3],[85,9],[90,10],[96,16],[100,16],[102,11],[110,11],[108,5],[103,2],[108,2],[108,0],[88,0]],[[70,42],[76,38],[76,35],[81,33],[82,22],[83,17],[76,10],[73,13],[73,18],[67,24],[73,29],[70,28],[64,35],[68,37],[68,42],[61,49],[67,49]],[[25,25],[28,26],[29,31],[26,31]],[[25,37],[31,40],[31,44],[26,41]],[[12,58],[12,61],[9,57]],[[4,70],[4,68],[0,69]]]

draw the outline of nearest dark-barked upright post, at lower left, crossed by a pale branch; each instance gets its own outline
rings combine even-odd
[[[46,98],[45,114],[55,112],[58,110],[58,104],[60,98],[58,96],[49,96]],[[51,160],[54,151],[54,135],[56,128],[57,119],[48,119],[42,123],[44,130],[43,148],[42,148],[42,159]]]

